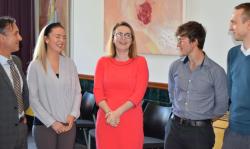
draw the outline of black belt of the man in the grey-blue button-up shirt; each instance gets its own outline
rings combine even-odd
[[[174,115],[173,120],[177,122],[179,125],[193,126],[193,127],[204,127],[212,124],[212,121],[210,119],[190,120],[190,119],[180,118],[176,115]]]

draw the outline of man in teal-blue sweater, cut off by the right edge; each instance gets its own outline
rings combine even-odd
[[[231,99],[229,127],[223,149],[250,149],[250,3],[235,7],[230,31],[242,41],[228,52],[227,74]]]

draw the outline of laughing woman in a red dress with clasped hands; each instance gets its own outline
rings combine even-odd
[[[94,95],[99,106],[97,149],[142,149],[141,101],[148,83],[148,67],[137,55],[132,27],[117,23],[109,41],[109,56],[99,59]]]

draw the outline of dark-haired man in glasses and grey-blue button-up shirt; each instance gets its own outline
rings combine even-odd
[[[206,31],[195,21],[178,27],[177,46],[182,58],[169,70],[169,97],[173,118],[166,149],[212,149],[212,121],[228,108],[226,73],[203,51]]]

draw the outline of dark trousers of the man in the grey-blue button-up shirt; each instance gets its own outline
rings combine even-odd
[[[215,135],[212,124],[207,126],[188,126],[170,120],[165,149],[212,149]]]

